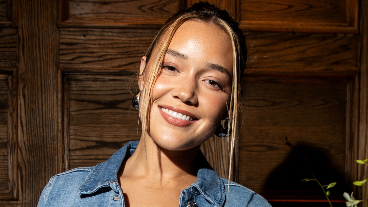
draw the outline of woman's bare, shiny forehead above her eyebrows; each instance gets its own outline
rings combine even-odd
[[[168,50],[204,63],[219,64],[231,73],[233,49],[229,35],[219,26],[202,21],[185,21],[174,33]]]

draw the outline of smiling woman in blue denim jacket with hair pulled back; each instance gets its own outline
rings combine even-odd
[[[39,206],[270,206],[220,178],[199,150],[215,133],[229,138],[232,156],[246,58],[244,36],[226,11],[197,3],[173,15],[141,59],[139,143],[53,176]]]

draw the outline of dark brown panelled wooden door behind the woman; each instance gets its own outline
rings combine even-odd
[[[140,57],[192,3],[0,0],[1,206],[36,206],[51,176],[139,139],[131,93]],[[273,206],[327,206],[315,183],[299,182],[311,176],[304,153],[322,183],[338,183],[333,206],[344,206],[343,191],[363,199],[351,182],[367,178],[354,162],[368,158],[367,1],[212,3],[239,18],[251,60],[232,179]],[[202,150],[227,177],[226,140]]]

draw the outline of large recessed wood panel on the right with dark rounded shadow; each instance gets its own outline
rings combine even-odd
[[[244,88],[239,171],[247,173],[240,173],[238,182],[268,199],[313,195],[323,200],[318,185],[299,182],[312,176],[299,155],[304,152],[321,182],[339,183],[330,197],[341,200],[351,181],[345,172],[351,152],[346,145],[347,84],[248,82]],[[286,136],[294,150],[285,144]]]

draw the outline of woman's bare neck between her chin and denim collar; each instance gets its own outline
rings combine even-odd
[[[169,151],[159,147],[148,135],[141,137],[137,150],[121,167],[121,176],[159,182],[175,183],[173,180],[195,182],[199,146],[190,150]]]

